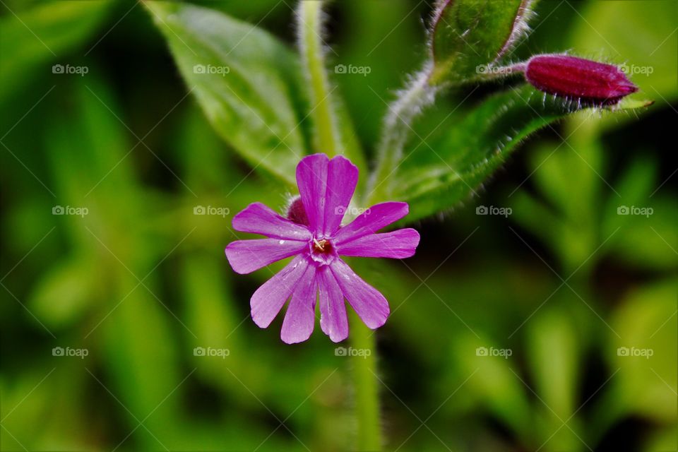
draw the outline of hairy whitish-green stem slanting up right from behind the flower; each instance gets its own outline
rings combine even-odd
[[[432,66],[429,63],[388,107],[376,151],[376,168],[367,190],[368,206],[388,198],[391,186],[388,178],[403,158],[403,148],[413,133],[412,121],[435,99],[436,88],[429,83],[431,73]]]

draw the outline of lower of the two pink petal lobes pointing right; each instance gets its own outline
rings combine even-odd
[[[414,256],[419,238],[419,232],[410,228],[382,234],[368,234],[343,242],[337,247],[337,253],[342,256],[403,259]]]

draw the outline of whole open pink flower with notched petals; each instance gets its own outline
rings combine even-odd
[[[311,336],[316,297],[321,329],[334,342],[348,336],[344,299],[369,328],[386,323],[390,312],[386,298],[340,256],[407,258],[415,254],[419,233],[413,229],[376,233],[408,214],[408,204],[398,202],[371,206],[341,226],[357,181],[358,169],[345,157],[329,160],[324,154],[309,155],[297,165],[301,196],[290,206],[288,218],[262,203],[250,204],[233,218],[235,230],[268,237],[238,240],[226,247],[235,272],[250,273],[295,256],[250,300],[254,323],[267,328],[292,297],[280,332],[285,343],[299,343]]]

